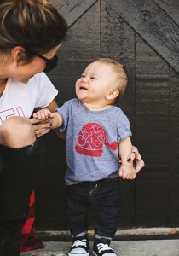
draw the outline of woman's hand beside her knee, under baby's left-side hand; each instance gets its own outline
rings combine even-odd
[[[50,118],[43,121],[40,121],[34,118],[29,120],[32,123],[32,126],[34,128],[34,131],[37,137],[41,137],[50,131],[50,127],[51,127]]]

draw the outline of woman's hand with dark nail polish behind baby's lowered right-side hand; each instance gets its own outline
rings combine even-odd
[[[132,152],[128,156],[128,162],[133,161],[136,173],[141,171],[145,166],[144,161],[141,159],[141,154],[139,154],[138,149],[135,146],[132,146]]]

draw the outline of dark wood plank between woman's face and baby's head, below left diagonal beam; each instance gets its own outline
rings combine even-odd
[[[75,81],[84,67],[100,56],[100,51],[100,3],[96,2],[70,27],[58,51],[59,65],[49,73],[59,90],[56,100],[60,105],[75,96]]]

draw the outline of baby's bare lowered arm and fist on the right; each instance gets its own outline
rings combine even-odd
[[[132,143],[130,137],[124,138],[119,142],[119,154],[121,157],[122,165],[119,169],[119,176],[124,179],[134,179],[136,178],[136,170],[133,167],[133,162],[127,161],[128,155],[132,151]]]

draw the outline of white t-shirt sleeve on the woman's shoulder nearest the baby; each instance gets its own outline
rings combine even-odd
[[[45,73],[39,73],[34,76],[35,86],[38,84],[38,98],[35,108],[45,108],[52,102],[58,94],[58,90],[51,83]]]

